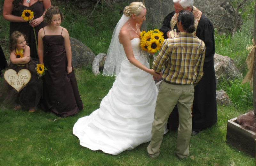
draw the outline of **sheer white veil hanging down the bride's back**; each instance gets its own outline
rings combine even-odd
[[[103,76],[117,76],[120,71],[120,66],[124,56],[124,48],[123,45],[119,43],[118,35],[120,29],[122,28],[124,23],[128,21],[128,19],[129,17],[123,14],[121,19],[116,24],[110,45],[108,47],[108,53],[103,69]]]

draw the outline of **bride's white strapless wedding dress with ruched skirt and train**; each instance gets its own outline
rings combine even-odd
[[[149,67],[140,39],[131,40],[134,57]],[[80,144],[92,150],[118,155],[151,139],[156,97],[152,76],[131,64],[125,55],[120,73],[100,108],[78,119],[73,133]]]

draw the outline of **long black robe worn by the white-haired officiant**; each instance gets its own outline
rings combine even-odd
[[[164,38],[167,39],[166,32],[171,30],[170,21],[175,11],[169,13],[163,21],[163,26],[159,29],[164,33]],[[177,25],[174,26],[177,32]],[[214,71],[213,56],[215,53],[214,30],[213,25],[204,14],[202,14],[198,26],[196,28],[196,36],[204,41],[205,58],[204,58],[204,75],[199,83],[195,86],[193,113],[192,113],[192,131],[199,132],[200,130],[210,127],[217,122],[217,101],[216,101],[216,79]],[[177,105],[173,109],[167,127],[169,130],[175,130],[179,125],[179,114]]]

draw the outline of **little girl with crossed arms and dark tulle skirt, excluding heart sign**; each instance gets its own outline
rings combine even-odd
[[[17,73],[21,69],[28,69],[31,73],[31,79],[28,84],[19,92],[4,82],[3,96],[6,97],[2,105],[14,109],[27,109],[28,112],[34,112],[41,98],[43,83],[37,77],[36,61],[30,58],[30,48],[27,45],[25,36],[18,31],[11,34],[10,37],[10,65],[8,69],[13,69]]]

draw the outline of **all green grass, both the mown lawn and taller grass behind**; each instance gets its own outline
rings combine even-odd
[[[51,2],[52,5],[58,5],[66,16],[62,26],[68,29],[70,36],[87,45],[95,55],[107,53],[113,29],[121,17],[119,11],[129,4],[123,2],[122,5],[114,5],[111,10],[105,6],[98,6],[92,17],[88,18],[86,16],[91,11],[78,10],[77,3],[72,3],[73,1],[51,0]],[[3,3],[4,0],[0,0],[0,4]],[[0,12],[2,14],[1,10]],[[252,34],[248,33],[250,27],[252,21],[245,22],[241,32],[235,37],[215,34],[216,53],[234,59],[243,75],[246,73],[244,60],[248,55],[245,46],[251,44],[252,39]],[[9,59],[8,43],[9,22],[0,17],[0,44],[7,60]],[[90,67],[78,67],[75,72],[84,109],[74,116],[60,118],[40,109],[34,113],[29,113],[27,110],[0,109],[0,166],[255,165],[254,157],[239,151],[226,141],[227,121],[252,108],[252,102],[248,103],[251,100],[241,97],[247,94],[246,96],[250,98],[250,90],[243,92],[250,89],[249,84],[240,85],[242,80],[226,80],[217,85],[218,90],[224,89],[227,92],[234,106],[218,106],[217,123],[191,137],[190,155],[187,159],[179,160],[176,157],[177,131],[169,131],[164,135],[160,156],[150,159],[146,150],[148,143],[119,155],[109,155],[100,150],[92,151],[80,146],[78,138],[72,133],[74,124],[80,117],[90,115],[99,108],[102,98],[108,93],[115,79],[104,77],[102,74],[94,76]],[[3,78],[0,78],[1,81]],[[241,99],[246,99],[247,102]]]

